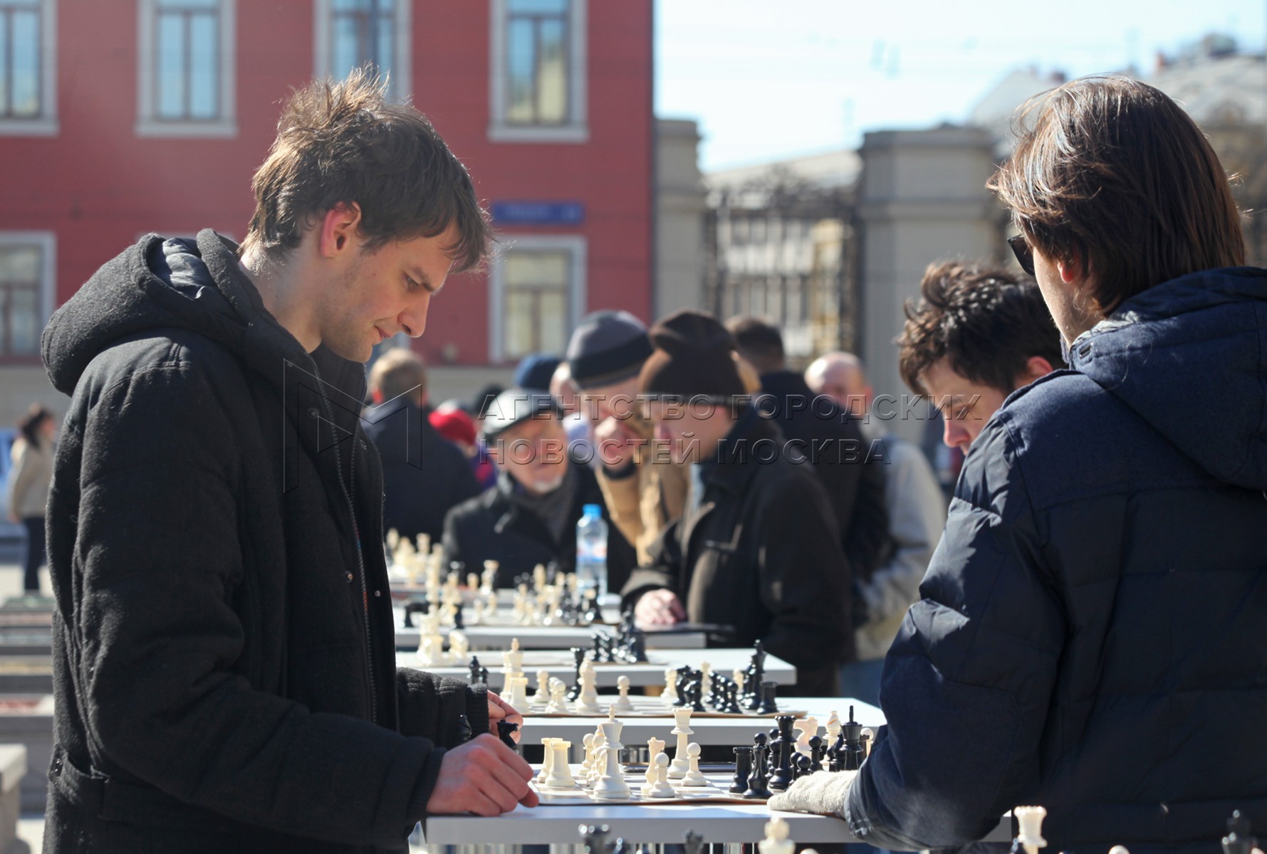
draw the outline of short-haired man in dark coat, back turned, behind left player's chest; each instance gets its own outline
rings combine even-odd
[[[370,368],[365,433],[383,459],[383,526],[414,539],[440,541],[445,514],[479,495],[479,483],[457,445],[427,420],[427,367],[413,350],[388,350]]]

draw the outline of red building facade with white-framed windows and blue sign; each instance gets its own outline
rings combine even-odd
[[[390,72],[468,164],[499,257],[454,280],[432,364],[560,350],[588,311],[649,319],[651,0],[0,0],[0,368],[141,234],[241,239],[279,101]]]

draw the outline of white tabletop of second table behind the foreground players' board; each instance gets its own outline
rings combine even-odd
[[[584,644],[584,647],[588,649],[589,644]],[[502,682],[504,681],[504,677],[502,676],[500,654],[492,652],[487,655],[480,655],[479,653],[475,653],[475,655],[479,657],[480,664],[489,669],[489,687],[493,688],[493,691],[503,690]],[[627,676],[630,678],[630,684],[634,687],[651,684],[663,686],[664,671],[668,667],[677,668],[683,664],[699,667],[701,662],[708,662],[712,664],[713,673],[729,676],[731,671],[746,668],[749,662],[751,662],[751,658],[753,650],[748,648],[653,649],[647,652],[649,662],[642,664],[621,664],[614,662],[608,664],[595,662],[594,669],[598,677],[598,687],[601,688],[614,688],[616,679],[621,676]],[[457,679],[466,679],[470,676],[465,664],[451,667],[423,665],[417,663],[416,657],[408,654],[398,654],[397,664],[400,667],[417,667],[427,671],[428,673],[451,676]],[[573,683],[576,672],[571,653],[566,650],[545,652],[530,649],[523,654],[523,674],[528,677],[530,693],[536,690],[537,671],[547,671],[551,678],[563,679],[569,686]],[[796,682],[796,668],[784,662],[782,658],[767,654],[765,681],[778,682],[779,684],[793,684]]]

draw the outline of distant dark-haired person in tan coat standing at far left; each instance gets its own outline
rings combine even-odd
[[[27,559],[22,586],[39,592],[39,567],[44,563],[44,507],[53,477],[53,436],[57,419],[41,404],[32,404],[18,423],[18,439],[10,449],[9,519],[27,529]]]

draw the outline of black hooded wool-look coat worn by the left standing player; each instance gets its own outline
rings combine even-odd
[[[403,849],[481,690],[395,667],[364,366],[309,354],[214,232],[53,316],[44,850]]]

